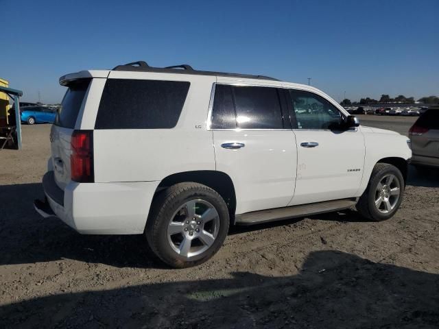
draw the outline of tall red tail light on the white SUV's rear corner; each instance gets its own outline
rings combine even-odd
[[[80,183],[94,182],[93,130],[74,130],[71,135],[71,151],[71,180]]]

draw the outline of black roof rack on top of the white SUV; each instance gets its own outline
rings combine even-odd
[[[128,64],[117,65],[115,68],[112,69],[112,71],[139,71],[139,72],[156,72],[156,73],[182,73],[182,74],[193,74],[193,75],[220,75],[224,77],[245,77],[247,79],[278,81],[278,79],[274,79],[274,77],[266,77],[265,75],[198,71],[193,69],[193,67],[188,64],[180,64],[180,65],[166,66],[166,67],[153,67],[153,66],[149,66],[147,62],[144,62],[142,60]]]

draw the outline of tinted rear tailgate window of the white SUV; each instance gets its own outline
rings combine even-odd
[[[91,79],[81,79],[69,84],[69,89],[62,99],[60,109],[56,115],[55,125],[71,129],[75,127],[90,82]]]

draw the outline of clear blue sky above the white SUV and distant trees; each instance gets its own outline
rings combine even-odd
[[[0,0],[0,77],[54,103],[58,78],[135,60],[270,75],[341,100],[439,95],[439,1]]]

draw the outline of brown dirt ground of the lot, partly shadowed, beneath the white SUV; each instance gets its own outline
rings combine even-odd
[[[397,119],[360,118],[414,121]],[[388,221],[346,210],[233,228],[209,262],[176,270],[143,236],[36,214],[49,130],[24,126],[23,150],[0,151],[0,328],[439,328],[438,173],[410,169]]]

